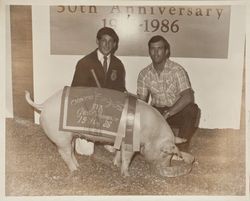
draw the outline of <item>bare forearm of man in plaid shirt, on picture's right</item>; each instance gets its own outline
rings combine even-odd
[[[175,115],[184,109],[188,104],[194,102],[194,92],[191,88],[182,91],[180,95],[181,97],[177,100],[177,102],[170,107],[170,109],[164,112],[165,118]]]

